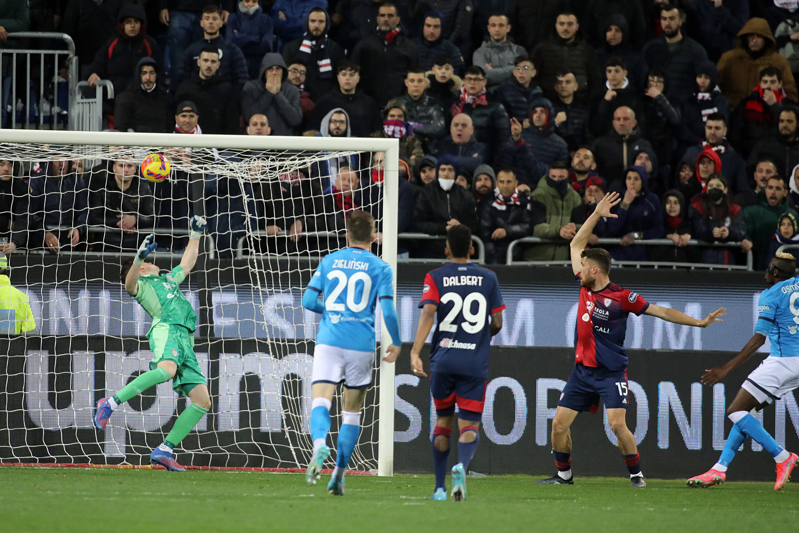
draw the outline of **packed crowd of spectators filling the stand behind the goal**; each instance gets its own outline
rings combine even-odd
[[[2,0],[0,40],[70,34],[81,79],[113,83],[109,129],[398,138],[400,232],[468,225],[490,263],[521,237],[556,241],[516,247],[519,259],[568,259],[610,190],[618,218],[590,244],[614,238],[616,260],[729,265],[751,249],[765,268],[799,243],[797,0],[206,2]],[[217,177],[206,185],[217,247],[235,246],[244,198],[288,247],[376,209],[380,157],[247,191]],[[15,225],[6,251],[55,252],[97,224],[121,231],[92,249],[135,248],[137,228],[193,212],[188,177],[153,192],[124,161],[34,165],[24,179],[12,167],[0,162],[0,225]],[[662,238],[674,245],[637,244]],[[400,241],[412,257],[440,248]]]

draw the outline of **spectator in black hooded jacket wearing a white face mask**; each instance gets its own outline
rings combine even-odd
[[[452,226],[467,225],[477,229],[475,197],[455,185],[457,161],[454,157],[439,157],[435,181],[425,185],[416,197],[414,231],[428,235],[445,235]],[[419,243],[419,257],[443,257],[441,244],[436,241]]]

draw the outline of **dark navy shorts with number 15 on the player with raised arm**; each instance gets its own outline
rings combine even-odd
[[[607,409],[627,408],[627,371],[574,364],[558,405],[577,412],[597,412],[599,399]]]

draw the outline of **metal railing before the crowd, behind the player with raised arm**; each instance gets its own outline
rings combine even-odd
[[[520,243],[531,243],[538,245],[562,245],[568,246],[569,241],[566,239],[541,239],[539,237],[524,237],[511,241],[507,247],[506,265],[571,265],[571,261],[513,261],[513,252],[516,245]],[[617,245],[619,239],[601,238],[598,239],[598,245]],[[647,239],[642,241],[635,241],[634,245],[644,246],[674,246],[674,241],[670,239]],[[687,246],[702,246],[710,248],[740,248],[740,242],[703,242],[691,239],[688,241]],[[799,248],[799,245],[797,245]],[[681,262],[668,262],[668,261],[613,261],[614,266],[630,266],[640,268],[642,266],[652,266],[654,268],[709,268],[711,270],[749,270],[753,268],[752,250],[746,252],[746,265],[716,265],[713,263],[681,263]]]

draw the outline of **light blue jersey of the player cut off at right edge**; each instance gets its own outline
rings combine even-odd
[[[761,292],[754,332],[769,337],[771,356],[799,357],[799,276]]]

